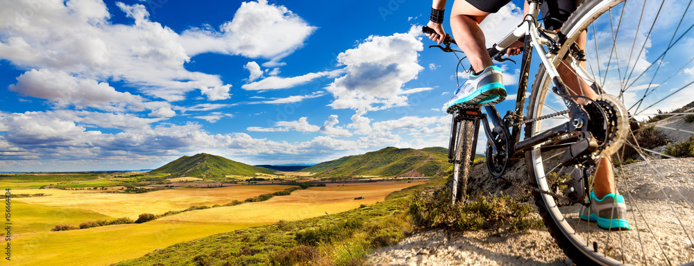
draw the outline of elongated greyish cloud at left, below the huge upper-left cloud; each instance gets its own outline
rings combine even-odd
[[[106,82],[88,78],[76,78],[69,74],[48,69],[32,69],[17,77],[17,84],[10,91],[26,96],[49,100],[58,107],[74,105],[77,108],[124,109],[126,105],[143,109],[142,97],[129,92],[119,92]]]

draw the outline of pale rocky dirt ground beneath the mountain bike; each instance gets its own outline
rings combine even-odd
[[[468,185],[468,193],[503,192],[530,200],[526,189],[493,179],[485,170],[483,164],[472,169],[475,176]],[[694,238],[694,160],[654,159],[650,163],[643,161],[625,166],[623,170],[618,173],[618,190],[625,195],[634,230],[610,233],[598,229],[595,223],[583,222],[577,227],[579,233],[591,239],[609,235],[600,245],[616,247],[610,255],[625,258],[627,263],[638,264],[637,260],[643,257],[648,265],[667,265],[663,253],[673,260],[672,265],[694,260],[691,242]],[[527,178],[524,163],[519,161],[512,165],[506,176],[518,181]],[[651,182],[653,180],[659,182]],[[571,213],[577,213],[578,207],[566,208],[575,209],[564,211],[568,213],[566,218],[570,224],[576,224],[578,215]],[[645,221],[658,224],[658,227],[649,227]],[[689,236],[683,233],[683,227]],[[620,247],[640,250],[639,243],[643,243],[645,256],[637,251],[620,253]],[[369,265],[573,265],[546,229],[527,233],[421,231],[397,245],[378,249],[368,262]]]

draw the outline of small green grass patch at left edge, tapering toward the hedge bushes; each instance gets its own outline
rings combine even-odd
[[[41,190],[37,190],[41,191]],[[12,200],[12,233],[33,233],[51,231],[56,224],[79,226],[90,220],[113,220],[114,218],[76,208],[48,206],[44,204],[27,204]]]

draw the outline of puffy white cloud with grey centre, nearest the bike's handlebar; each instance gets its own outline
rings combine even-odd
[[[421,38],[410,33],[369,36],[357,48],[337,56],[346,75],[326,89],[335,96],[335,109],[385,109],[407,105],[403,85],[423,69],[418,64]]]

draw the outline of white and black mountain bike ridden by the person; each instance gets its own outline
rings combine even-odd
[[[523,23],[488,49],[503,62],[505,49],[525,37],[515,108],[503,117],[493,106],[452,114],[452,201],[464,200],[482,127],[489,173],[502,177],[511,159],[525,157],[529,179],[518,186],[531,188],[548,231],[577,265],[694,265],[694,163],[673,156],[678,149],[691,154],[694,139],[690,146],[663,148],[657,137],[663,133],[656,134],[675,130],[685,141],[694,136],[682,119],[694,118],[694,105],[685,106],[694,100],[691,1],[588,0],[559,31],[545,30],[538,20],[541,1],[528,2]],[[430,48],[457,52],[451,44],[447,36],[443,46]],[[532,51],[541,64],[526,100]],[[559,76],[560,66],[600,97],[575,93]],[[600,229],[579,218],[579,207],[589,206],[595,161],[602,158],[613,163],[630,231]],[[627,166],[634,161],[641,162]]]

